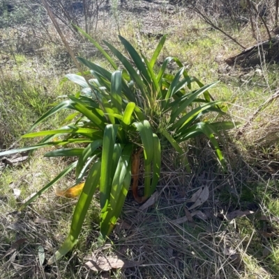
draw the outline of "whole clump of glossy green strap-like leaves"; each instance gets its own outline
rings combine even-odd
[[[160,178],[160,138],[183,154],[181,146],[189,138],[205,134],[215,148],[220,166],[225,168],[223,154],[216,135],[220,129],[232,129],[232,122],[204,122],[204,114],[224,113],[222,102],[211,101],[209,88],[197,79],[188,76],[177,58],[168,57],[157,71],[154,70],[163,48],[164,36],[151,57],[139,54],[130,43],[119,36],[128,53],[105,42],[116,61],[98,43],[80,30],[95,45],[110,63],[112,71],[96,63],[78,57],[89,68],[92,79],[80,74],[66,77],[79,84],[82,89],[75,96],[54,106],[42,115],[24,138],[44,136],[40,143],[17,150],[1,152],[0,156],[26,150],[53,146],[45,157],[73,157],[75,161],[54,180],[45,185],[35,196],[20,207],[24,209],[33,200],[47,191],[61,177],[75,169],[75,184],[86,177],[80,198],[73,213],[70,233],[49,263],[68,253],[77,243],[86,212],[96,189],[100,192],[100,232],[106,237],[112,232],[121,213],[128,189],[133,181],[133,194],[138,202],[144,202],[155,191]],[[176,74],[166,72],[173,61],[179,65]],[[117,65],[121,64],[121,68]],[[192,90],[193,83],[197,86]],[[31,133],[48,117],[63,109],[74,111],[66,120],[67,125],[49,131]],[[78,147],[77,147],[78,146]],[[187,159],[183,159],[190,170]],[[137,182],[140,165],[144,166],[144,196],[138,196]],[[132,180],[133,178],[133,180]],[[56,258],[56,259],[55,259]]]

